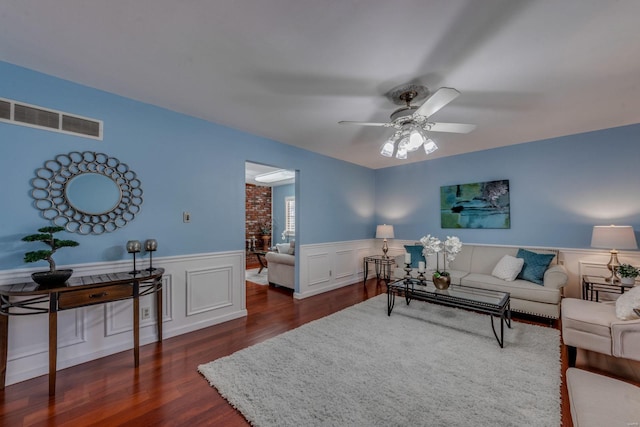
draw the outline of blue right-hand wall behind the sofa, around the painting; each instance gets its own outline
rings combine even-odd
[[[473,144],[473,138],[469,140]],[[640,242],[640,125],[376,171],[377,223],[399,239],[588,248],[594,225],[632,225]],[[508,179],[511,228],[442,229],[440,187]]]

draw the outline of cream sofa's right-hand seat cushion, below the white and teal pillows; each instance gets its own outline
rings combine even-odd
[[[489,274],[469,273],[460,280],[460,284],[474,288],[509,292],[511,298],[542,302],[545,304],[558,304],[561,298],[559,289],[539,286],[527,280],[516,279],[513,282],[507,282],[506,280],[498,279]]]

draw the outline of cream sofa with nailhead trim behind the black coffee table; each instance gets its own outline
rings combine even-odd
[[[527,248],[523,248],[527,249]],[[558,263],[558,253],[554,250],[528,249],[538,254],[552,254],[553,260],[542,276],[542,284],[528,280],[516,279],[507,281],[492,275],[498,262],[505,255],[516,257],[519,248],[506,246],[483,246],[464,244],[455,260],[447,266],[451,274],[452,285],[471,286],[475,288],[491,289],[509,292],[511,294],[511,310],[536,316],[558,319],[560,317],[560,301],[562,289],[567,284],[568,275],[564,266]],[[405,276],[404,254],[396,258],[394,277],[401,279]],[[429,278],[436,268],[435,258],[427,259],[427,273]],[[440,264],[442,269],[442,261]],[[415,277],[417,272],[412,270]]]

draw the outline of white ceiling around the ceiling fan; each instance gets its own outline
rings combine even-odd
[[[478,126],[434,133],[430,158],[640,122],[639,17],[637,0],[2,0],[0,60],[381,168],[427,156],[381,157],[390,129],[338,121],[386,121],[408,82],[458,89],[432,120]]]

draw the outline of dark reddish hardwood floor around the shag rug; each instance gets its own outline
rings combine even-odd
[[[55,396],[48,395],[47,376],[8,386],[0,391],[0,425],[247,426],[198,365],[385,291],[372,279],[366,287],[295,300],[290,290],[248,282],[246,318],[143,346],[137,370],[129,350],[59,371]],[[564,352],[562,359],[564,372]],[[562,408],[563,426],[572,426],[564,384]]]

